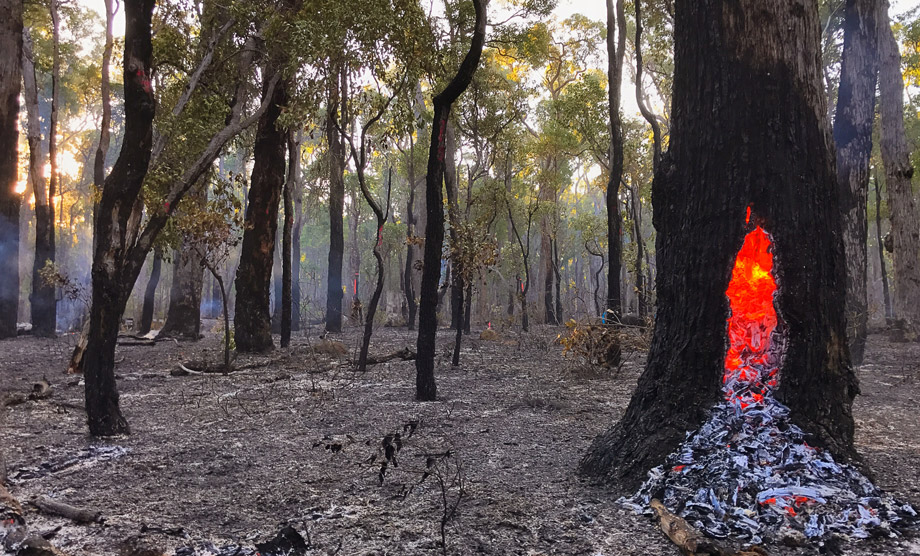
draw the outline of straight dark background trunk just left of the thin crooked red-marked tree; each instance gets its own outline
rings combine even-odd
[[[335,66],[334,66],[335,67]],[[345,144],[335,126],[344,72],[333,69],[329,75],[329,98],[326,101],[326,142],[329,148],[329,266],[326,278],[326,331],[342,331],[342,259],[345,257]]]

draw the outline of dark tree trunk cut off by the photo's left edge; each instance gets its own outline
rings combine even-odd
[[[0,339],[16,337],[19,312],[19,91],[22,2],[0,0]]]

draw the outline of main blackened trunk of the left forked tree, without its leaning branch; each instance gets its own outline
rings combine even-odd
[[[150,21],[154,0],[127,0],[125,9],[125,133],[121,153],[105,180],[94,225],[93,300],[83,370],[90,433],[130,432],[118,407],[115,342],[125,304],[134,285],[125,257],[125,230],[143,185],[153,146],[155,102],[150,86]]]

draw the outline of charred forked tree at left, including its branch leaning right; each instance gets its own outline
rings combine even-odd
[[[179,88],[171,112],[175,121],[197,121],[199,127],[195,136],[199,140],[182,146],[180,150],[187,158],[182,158],[176,167],[164,168],[163,172],[148,176],[152,153],[160,141],[159,138],[155,140],[153,134],[157,80],[152,72],[153,7],[153,0],[131,0],[124,4],[125,135],[118,160],[106,177],[94,223],[93,292],[83,370],[89,429],[96,436],[130,431],[118,405],[115,343],[121,316],[144,260],[176,208],[211,168],[224,145],[255,123],[270,104],[263,101],[257,108],[249,108],[248,91],[244,86],[251,70],[248,66],[241,68],[239,75],[231,76],[229,84],[221,86],[215,82],[211,83],[212,87],[204,87],[202,77],[214,57],[202,56],[190,74],[180,77],[187,80],[186,85]],[[266,8],[266,12],[270,10]],[[271,16],[270,13],[260,15]],[[240,50],[234,51],[238,59]],[[273,79],[269,83],[268,92],[273,91],[277,81]],[[202,110],[196,118],[188,117],[196,107],[201,110],[204,104],[209,110]],[[189,112],[185,112],[190,106]],[[247,110],[250,114],[243,117]],[[210,118],[202,118],[202,115]],[[166,124],[158,132],[158,137],[164,137],[164,148],[170,145],[177,148],[180,134],[175,131],[176,128]],[[182,138],[187,139],[187,136],[183,134]],[[145,181],[150,183],[146,184],[148,192],[142,198]],[[148,204],[146,216],[144,199]]]

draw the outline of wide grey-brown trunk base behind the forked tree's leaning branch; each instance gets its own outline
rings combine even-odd
[[[207,204],[207,179],[201,179],[189,192],[188,203],[204,210]],[[181,210],[181,209],[180,209]],[[173,253],[173,280],[169,288],[169,308],[160,336],[198,341],[201,333],[201,290],[204,266],[195,239],[183,237]]]

